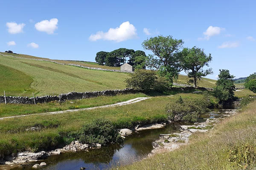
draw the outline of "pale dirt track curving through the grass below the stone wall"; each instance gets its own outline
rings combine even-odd
[[[128,101],[125,101],[125,102],[115,103],[115,104],[112,104],[112,105],[96,106],[96,107],[93,107],[93,108],[83,108],[83,109],[74,109],[74,110],[66,110],[66,111],[56,111],[56,112],[47,112],[47,113],[35,113],[35,114],[27,114],[27,115],[1,117],[0,120],[9,119],[9,118],[24,117],[24,116],[50,115],[50,114],[71,113],[71,112],[77,112],[77,111],[88,111],[88,110],[97,109],[97,108],[110,108],[110,107],[116,107],[116,106],[122,106],[122,105],[130,105],[130,104],[137,103],[137,102],[143,101],[145,99],[150,99],[150,98],[151,97],[137,97],[135,99],[131,99],[131,100],[128,100]]]

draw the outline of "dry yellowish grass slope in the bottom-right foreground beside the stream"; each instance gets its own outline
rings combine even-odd
[[[256,101],[190,143],[118,170],[241,170],[256,167]]]

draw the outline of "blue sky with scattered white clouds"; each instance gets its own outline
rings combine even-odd
[[[212,54],[209,78],[220,68],[236,78],[256,72],[254,0],[1,0],[0,6],[0,51],[94,61],[98,51],[143,50],[147,38],[172,35]]]

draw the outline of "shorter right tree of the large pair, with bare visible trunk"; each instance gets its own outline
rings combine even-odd
[[[182,60],[183,69],[188,74],[189,78],[193,78],[194,87],[197,87],[198,79],[201,77],[212,74],[212,68],[204,70],[204,66],[209,66],[209,62],[212,61],[211,54],[206,55],[204,50],[201,48],[183,48],[182,51]]]

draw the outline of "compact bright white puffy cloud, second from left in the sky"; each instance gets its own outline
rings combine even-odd
[[[35,29],[38,31],[46,32],[47,34],[53,34],[58,28],[58,19],[52,18],[51,20],[43,20],[35,24]]]

